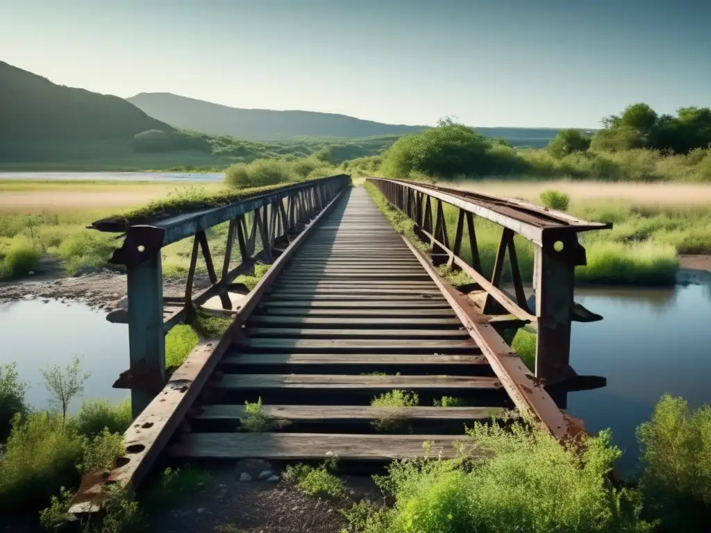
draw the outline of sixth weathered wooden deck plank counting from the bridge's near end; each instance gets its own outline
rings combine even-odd
[[[424,337],[429,339],[440,338],[468,339],[469,332],[460,329],[454,330],[408,330],[408,329],[319,329],[319,328],[247,328],[250,337],[269,338],[346,338],[346,337],[380,337],[380,338],[413,338]]]

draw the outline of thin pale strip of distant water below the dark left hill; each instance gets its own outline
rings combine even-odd
[[[222,173],[186,172],[0,172],[0,180],[223,181]]]

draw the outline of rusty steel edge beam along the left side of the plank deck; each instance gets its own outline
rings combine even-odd
[[[331,210],[341,198],[341,189],[305,230],[301,232],[289,247],[272,264],[267,274],[260,279],[254,289],[247,295],[235,320],[219,340],[204,340],[188,355],[169,379],[164,389],[144,411],[134,420],[124,434],[124,444],[127,453],[117,458],[115,467],[103,472],[93,472],[85,475],[79,491],[69,508],[70,515],[81,516],[97,512],[105,497],[105,488],[109,485],[135,488],[149,472],[159,454],[169,442],[173,433],[185,419],[193,402],[202,392],[208,378],[217,367],[220,358],[232,344],[232,340],[240,335],[240,328],[254,311],[255,307],[274,283],[274,279],[287,264],[299,245],[309,237],[311,230]],[[162,338],[162,335],[161,335]]]

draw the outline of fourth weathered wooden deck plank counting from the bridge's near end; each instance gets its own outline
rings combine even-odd
[[[414,355],[358,353],[241,353],[226,355],[225,365],[488,365],[486,357],[474,355]]]

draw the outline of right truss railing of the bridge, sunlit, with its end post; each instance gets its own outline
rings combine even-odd
[[[585,249],[577,234],[609,229],[611,224],[587,222],[562,212],[540,208],[519,200],[496,198],[462,190],[419,182],[368,178],[387,201],[405,212],[415,222],[419,237],[432,247],[432,262],[461,269],[476,282],[469,291],[479,289],[481,312],[506,318],[501,324],[528,324],[535,328],[535,376],[549,385],[576,377],[570,367],[570,332],[572,321],[602,319],[573,300],[575,266],[586,264]],[[454,241],[447,227],[445,206],[456,210]],[[475,217],[501,225],[501,242],[496,252],[491,277],[483,274],[480,249],[476,240]],[[535,246],[533,265],[533,303],[525,296],[514,235],[521,235]],[[464,239],[467,239],[466,241]],[[469,244],[471,259],[461,257],[464,242]],[[508,254],[507,254],[508,252]],[[508,255],[513,296],[501,289],[502,274]],[[492,318],[491,323],[496,323]],[[586,381],[585,379],[578,379]],[[594,387],[599,379],[590,378]],[[591,385],[588,385],[591,386]],[[581,387],[578,384],[578,387]]]

